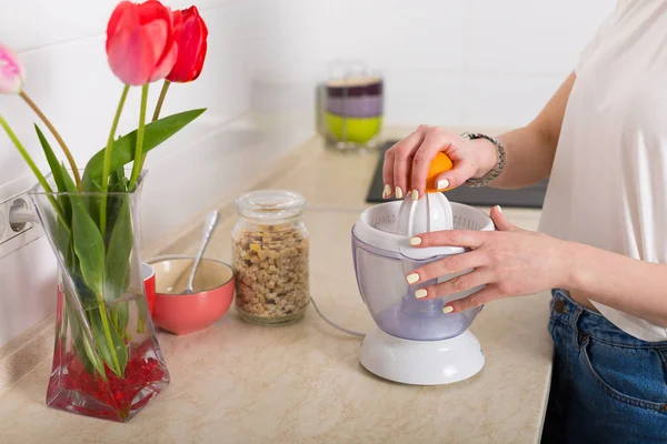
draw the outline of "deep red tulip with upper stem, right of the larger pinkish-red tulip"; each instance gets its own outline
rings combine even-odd
[[[160,110],[171,82],[187,83],[197,80],[206,60],[208,28],[199,16],[197,7],[191,6],[182,11],[176,11],[173,17],[178,27],[178,57],[171,72],[165,78],[153,112],[153,122],[160,117]]]

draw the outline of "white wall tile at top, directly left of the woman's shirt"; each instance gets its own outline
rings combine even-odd
[[[471,73],[566,77],[616,0],[470,0]]]

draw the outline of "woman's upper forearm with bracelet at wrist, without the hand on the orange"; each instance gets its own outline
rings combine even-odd
[[[507,160],[505,170],[489,186],[517,189],[549,175],[575,79],[575,73],[571,73],[530,124],[497,137],[505,147]],[[486,139],[477,139],[472,143],[476,145],[472,149],[484,151],[480,165],[472,175],[481,178],[496,164],[496,147]]]

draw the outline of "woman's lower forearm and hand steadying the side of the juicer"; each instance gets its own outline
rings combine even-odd
[[[498,208],[491,210],[491,219],[497,231],[446,230],[412,238],[410,243],[418,248],[470,249],[412,270],[406,280],[416,286],[442,275],[465,273],[420,286],[415,292],[417,297],[442,297],[485,286],[446,305],[444,311],[450,313],[497,299],[566,289],[667,327],[667,264],[641,262],[518,229]]]

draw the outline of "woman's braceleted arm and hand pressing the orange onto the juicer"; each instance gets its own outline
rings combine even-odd
[[[549,175],[574,82],[571,73],[530,124],[498,138],[505,147],[506,167],[490,186],[521,188]],[[382,169],[385,198],[395,194],[402,199],[411,191],[414,199],[424,195],[428,169],[438,152],[454,161],[454,168],[438,178],[442,191],[485,175],[497,162],[496,147],[486,139],[467,140],[444,128],[421,125],[387,150]]]

